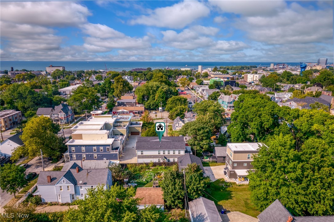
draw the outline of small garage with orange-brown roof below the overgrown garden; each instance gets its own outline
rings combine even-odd
[[[138,187],[135,198],[140,199],[137,205],[138,209],[144,209],[145,207],[149,207],[151,205],[155,205],[162,211],[165,209],[161,187]]]

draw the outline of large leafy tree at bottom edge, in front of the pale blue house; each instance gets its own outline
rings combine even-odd
[[[99,186],[89,189],[77,210],[69,210],[65,221],[136,221],[138,219],[135,189],[113,185],[110,189]],[[94,209],[94,210],[92,210]]]

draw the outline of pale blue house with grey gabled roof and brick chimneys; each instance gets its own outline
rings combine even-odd
[[[112,175],[109,169],[82,169],[76,166],[67,171],[41,171],[37,180],[37,191],[42,202],[71,203],[85,199],[87,190],[97,186],[109,189]]]

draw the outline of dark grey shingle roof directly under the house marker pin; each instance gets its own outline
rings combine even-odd
[[[138,137],[136,150],[185,150],[183,136],[162,137],[161,142],[157,136]]]

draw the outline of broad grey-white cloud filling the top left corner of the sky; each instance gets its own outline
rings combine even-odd
[[[91,15],[75,2],[1,2],[1,21],[41,26],[76,26]]]

